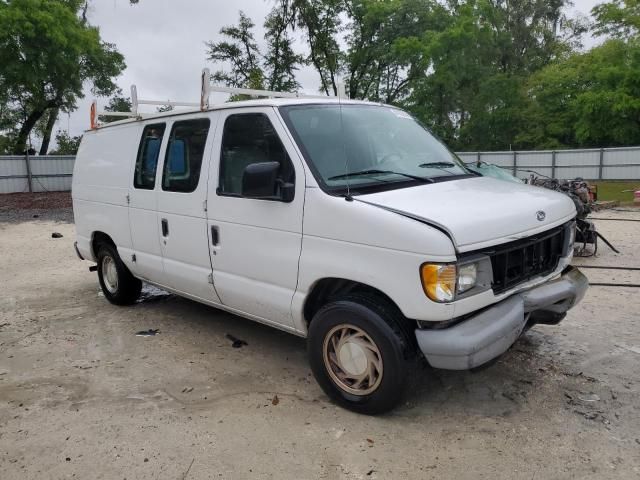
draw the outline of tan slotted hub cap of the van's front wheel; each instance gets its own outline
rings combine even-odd
[[[361,328],[343,324],[332,328],[323,345],[324,364],[334,383],[352,395],[368,395],[382,381],[382,355]]]

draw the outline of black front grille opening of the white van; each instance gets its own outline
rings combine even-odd
[[[531,278],[553,272],[562,257],[566,231],[565,226],[561,225],[481,252],[491,258],[494,293],[504,292]]]

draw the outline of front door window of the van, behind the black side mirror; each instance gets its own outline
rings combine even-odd
[[[240,196],[247,165],[278,162],[279,177],[293,183],[295,170],[269,118],[263,113],[230,115],[224,123],[220,152],[219,195]]]

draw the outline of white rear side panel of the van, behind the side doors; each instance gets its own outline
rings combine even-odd
[[[72,197],[78,250],[93,259],[95,232],[109,235],[119,251],[131,250],[127,194],[137,128],[114,127],[86,132],[73,170]],[[135,154],[134,154],[135,156]],[[122,255],[131,267],[130,257]]]

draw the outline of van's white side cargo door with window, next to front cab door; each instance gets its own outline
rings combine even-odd
[[[162,284],[212,303],[220,300],[211,282],[206,200],[217,118],[217,113],[176,117],[167,126],[157,193]]]

